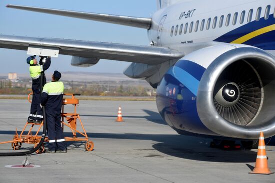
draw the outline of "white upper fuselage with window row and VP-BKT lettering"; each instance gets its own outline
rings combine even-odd
[[[153,14],[148,38],[154,46],[170,47],[188,54],[201,48],[203,43],[214,44],[212,41],[218,37],[246,24],[255,21],[261,21],[262,24],[262,19],[258,18],[273,14],[274,2],[275,0],[179,0]],[[251,32],[249,29],[239,31],[235,34],[241,36],[242,33]],[[241,40],[233,41],[230,42],[245,44]]]

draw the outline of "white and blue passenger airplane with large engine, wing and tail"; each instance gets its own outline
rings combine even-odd
[[[275,0],[156,0],[151,17],[11,5],[147,30],[150,45],[0,34],[0,48],[54,48],[71,65],[132,62],[124,74],[156,88],[162,119],[178,134],[241,140],[275,135]],[[210,5],[209,5],[210,4]]]

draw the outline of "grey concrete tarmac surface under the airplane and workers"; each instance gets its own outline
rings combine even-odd
[[[125,122],[114,122],[118,106]],[[26,100],[0,100],[0,141],[12,140],[29,114]],[[66,110],[70,110],[68,107]],[[154,101],[80,101],[77,108],[94,151],[67,143],[66,154],[0,157],[0,183],[274,183],[275,175],[251,175],[257,150],[209,148],[211,139],[178,135],[162,121]],[[69,112],[69,111],[67,111]],[[65,136],[71,136],[68,128]],[[30,146],[22,144],[22,151]],[[17,150],[20,151],[20,150]],[[10,143],[0,153],[14,152]],[[266,146],[275,171],[275,147]]]

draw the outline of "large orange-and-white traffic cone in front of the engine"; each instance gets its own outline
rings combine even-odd
[[[259,146],[258,146],[258,153],[257,153],[255,168],[253,169],[252,172],[249,172],[249,174],[265,174],[265,175],[274,174],[269,170],[267,165],[263,132],[260,132],[260,135],[259,135]]]

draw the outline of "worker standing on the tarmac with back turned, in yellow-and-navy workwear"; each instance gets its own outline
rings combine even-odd
[[[51,82],[44,85],[41,105],[45,106],[47,119],[48,151],[46,153],[66,153],[63,130],[61,128],[61,107],[64,85],[59,81],[61,73],[54,71]]]

